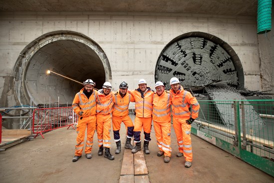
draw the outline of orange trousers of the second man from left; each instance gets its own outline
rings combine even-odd
[[[98,146],[110,148],[111,115],[96,114]]]

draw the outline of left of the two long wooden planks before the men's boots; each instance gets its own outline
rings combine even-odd
[[[131,149],[124,150],[121,175],[134,175],[134,163],[133,163],[133,153]]]

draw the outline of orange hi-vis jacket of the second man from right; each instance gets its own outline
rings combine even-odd
[[[170,114],[170,92],[164,91],[160,96],[155,92],[153,95],[152,119],[157,122],[171,121]]]

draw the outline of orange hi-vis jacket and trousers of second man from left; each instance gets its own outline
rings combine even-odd
[[[98,90],[96,103],[96,122],[98,146],[110,148],[111,112],[113,106],[113,91],[105,95],[103,89]]]

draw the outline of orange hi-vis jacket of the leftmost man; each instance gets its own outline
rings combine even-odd
[[[75,94],[72,102],[72,108],[78,115],[80,111],[83,111],[81,117],[95,115],[97,91],[93,89],[92,94],[89,96],[89,98],[87,98],[87,96],[83,93],[83,90],[84,88]]]

